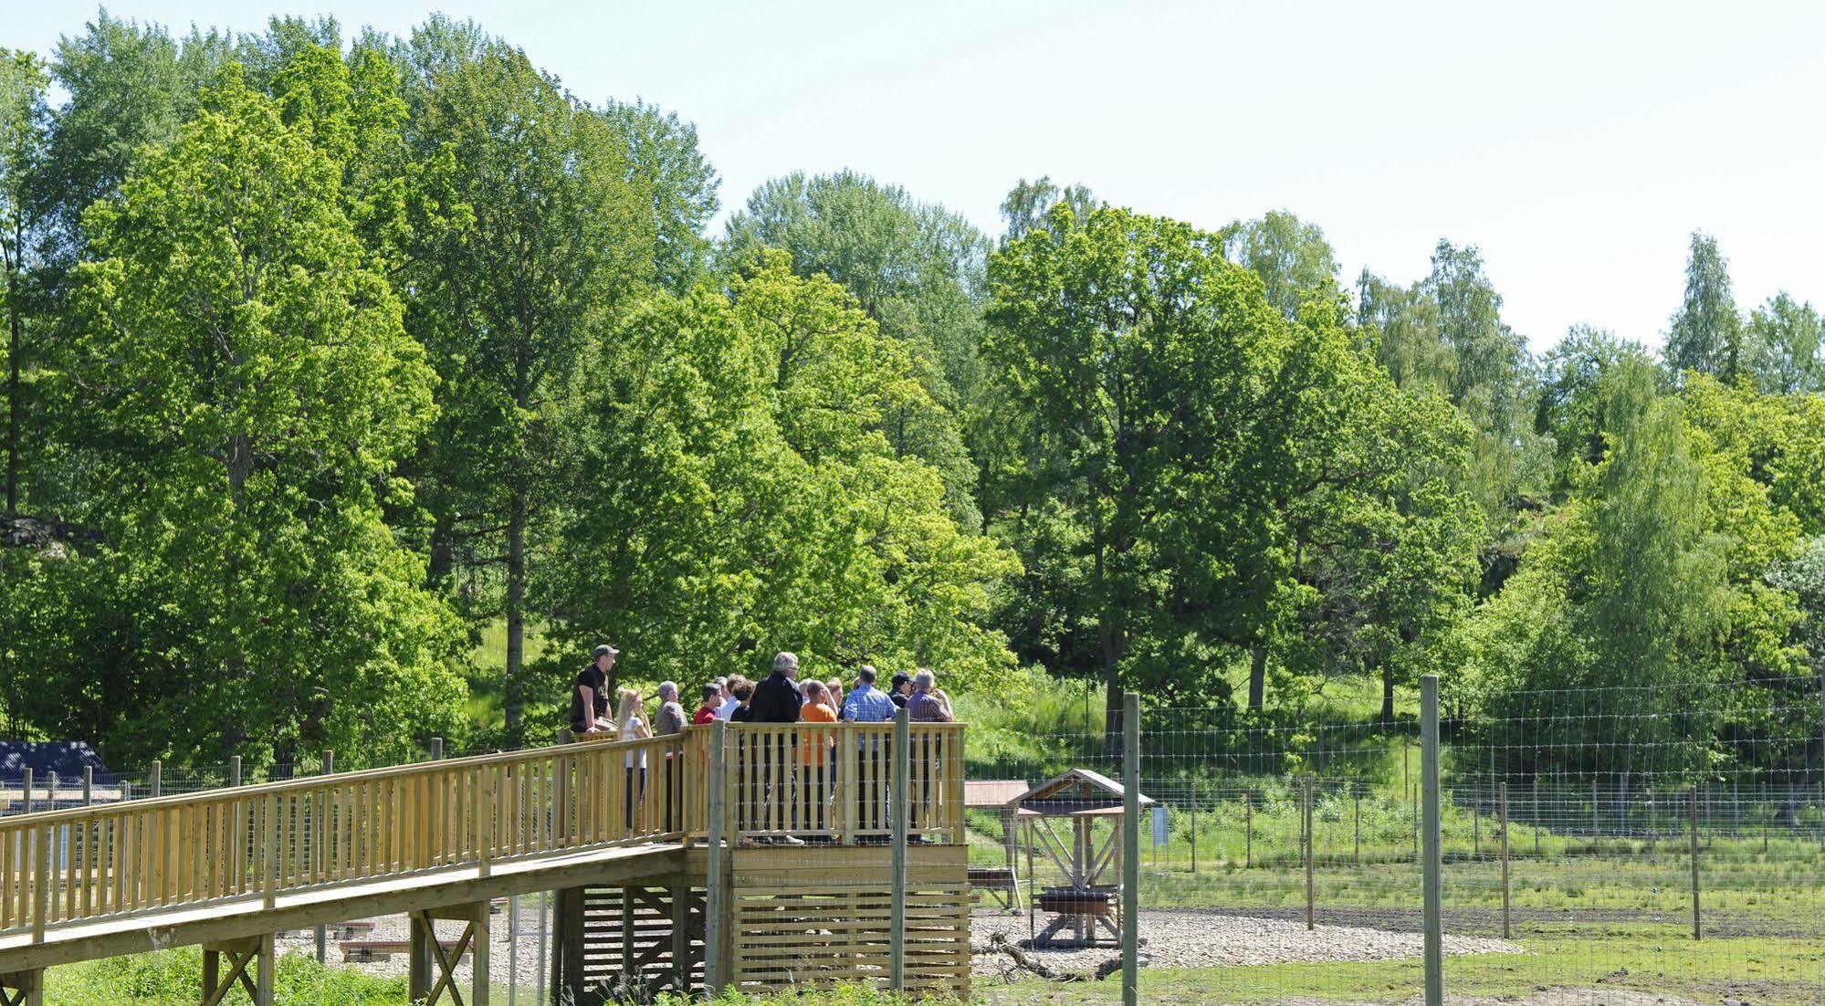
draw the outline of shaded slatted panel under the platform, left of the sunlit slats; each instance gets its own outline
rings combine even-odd
[[[628,887],[633,911],[622,915],[620,887],[588,887],[582,904],[582,977],[600,995],[635,973],[646,988],[673,988],[672,887]],[[684,895],[684,935],[690,990],[703,988],[703,887]],[[589,997],[591,1002],[600,999]]]

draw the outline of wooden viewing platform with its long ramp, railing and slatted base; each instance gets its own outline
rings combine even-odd
[[[201,944],[199,1002],[243,982],[265,1006],[274,933],[403,913],[412,999],[454,995],[471,953],[464,1001],[485,1006],[489,904],[537,891],[558,893],[553,975],[584,1006],[610,980],[892,969],[967,993],[964,727],[900,728],[719,723],[0,818],[0,1004],[38,1006],[44,968]],[[896,772],[911,847],[891,842]],[[440,918],[465,924],[454,944]]]

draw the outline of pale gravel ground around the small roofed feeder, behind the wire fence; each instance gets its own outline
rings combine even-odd
[[[996,931],[1017,944],[1027,938],[1026,915],[978,911],[973,917],[973,944],[978,948]],[[1365,926],[1318,926],[1307,933],[1305,922],[1210,911],[1144,911],[1141,938],[1144,940],[1141,949],[1153,968],[1391,960],[1424,953],[1420,933],[1391,933]],[[1060,971],[1091,971],[1119,953],[1115,948],[1029,949],[1027,957]],[[1507,940],[1445,937],[1445,953],[1524,953],[1524,949]],[[1002,955],[975,959],[978,975],[998,975],[1006,966],[1007,959]]]

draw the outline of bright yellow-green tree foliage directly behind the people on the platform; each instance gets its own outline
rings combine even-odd
[[[1015,557],[958,528],[938,473],[881,420],[920,398],[903,341],[779,252],[734,279],[659,294],[602,345],[579,398],[589,482],[553,566],[558,632],[624,637],[642,676],[1011,666],[984,628]],[[825,670],[816,670],[823,666]]]

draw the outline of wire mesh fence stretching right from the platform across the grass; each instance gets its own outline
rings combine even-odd
[[[1825,1002],[1818,696],[1734,719],[1694,716],[1712,697],[1690,688],[1644,692],[1597,694],[1588,716],[1568,712],[1575,694],[1511,696],[1507,708],[1531,712],[1444,723],[1447,997]],[[1197,982],[1208,1001],[1420,997],[1414,725],[1201,718],[1142,714],[1139,929],[1155,993]],[[973,763],[971,780],[1121,778],[1100,730],[1027,741],[1026,756]],[[1044,942],[1064,918],[1048,909],[1077,909],[1060,891],[1097,885],[1077,858],[1100,854],[1119,820],[1053,811],[975,811],[973,864],[1011,869],[1022,895],[980,906],[978,929],[998,915]]]

